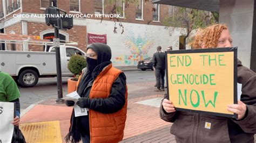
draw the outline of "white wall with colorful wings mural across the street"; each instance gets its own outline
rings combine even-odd
[[[157,46],[161,46],[163,51],[167,47],[173,46],[178,49],[179,30],[172,31],[165,26],[122,23],[123,28],[117,26],[117,33],[113,32],[116,26],[112,21],[99,22],[95,19],[86,19],[87,33],[107,35],[107,45],[111,47],[113,66],[137,66],[138,61],[152,57]],[[171,32],[171,33],[170,33]]]

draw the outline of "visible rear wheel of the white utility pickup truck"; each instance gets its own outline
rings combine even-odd
[[[33,87],[38,82],[38,75],[36,71],[31,69],[26,69],[22,71],[22,73],[19,75],[19,84],[22,85],[22,87]]]

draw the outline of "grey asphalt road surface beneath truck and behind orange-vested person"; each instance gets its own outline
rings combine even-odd
[[[131,70],[133,69],[133,70]],[[126,82],[130,91],[137,90],[138,87],[130,83],[143,83],[143,82],[153,82],[155,77],[153,76],[153,71],[151,70],[137,70],[136,68],[130,68],[129,70],[124,69],[126,75]],[[67,83],[68,78],[62,77],[62,86],[63,86],[63,96],[67,94]],[[38,84],[35,87],[31,88],[21,88],[21,111],[23,112],[26,108],[29,108],[30,105],[37,104],[46,99],[57,99],[57,78],[39,78]],[[132,94],[130,93],[130,98],[136,98],[140,96],[145,96],[143,94]]]

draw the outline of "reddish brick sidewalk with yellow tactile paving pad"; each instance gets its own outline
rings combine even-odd
[[[159,118],[159,105],[164,92],[153,91],[153,84],[128,85],[130,97],[138,94],[147,96],[128,99],[122,142],[175,142],[170,134],[171,124]],[[48,99],[28,110],[22,116],[20,125],[27,142],[64,142],[72,107]]]

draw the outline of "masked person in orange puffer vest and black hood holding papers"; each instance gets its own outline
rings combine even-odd
[[[86,52],[86,70],[78,80],[76,104],[87,115],[75,117],[73,110],[66,142],[118,142],[123,139],[127,112],[127,86],[123,71],[112,67],[111,49],[91,44]],[[74,101],[65,101],[73,106]]]

